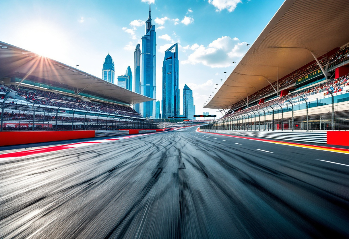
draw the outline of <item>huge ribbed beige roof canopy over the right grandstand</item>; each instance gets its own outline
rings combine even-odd
[[[286,0],[204,108],[227,109],[349,42],[348,0]]]

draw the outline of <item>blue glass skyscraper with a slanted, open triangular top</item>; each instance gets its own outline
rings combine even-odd
[[[165,51],[162,67],[162,115],[164,118],[179,115],[178,43]]]

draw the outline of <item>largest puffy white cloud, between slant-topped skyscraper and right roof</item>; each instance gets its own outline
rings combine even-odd
[[[193,65],[201,63],[212,68],[232,66],[232,61],[239,61],[246,53],[246,44],[246,42],[240,42],[236,37],[223,36],[211,42],[207,47],[198,44],[185,46],[184,49],[191,49],[194,52],[181,63]]]

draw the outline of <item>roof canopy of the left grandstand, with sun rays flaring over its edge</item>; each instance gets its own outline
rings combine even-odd
[[[128,104],[154,100],[74,67],[0,42],[0,79],[13,76]]]

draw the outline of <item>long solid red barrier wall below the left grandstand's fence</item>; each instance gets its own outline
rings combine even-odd
[[[95,137],[94,130],[86,131],[12,131],[0,132],[0,146],[32,144],[68,139]]]

